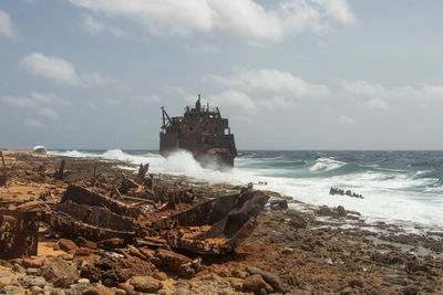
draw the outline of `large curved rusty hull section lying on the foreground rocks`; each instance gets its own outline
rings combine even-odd
[[[119,201],[69,186],[61,202],[47,212],[45,222],[70,235],[100,241],[144,239],[198,254],[231,252],[257,226],[257,215],[268,201],[260,191],[245,190],[193,204],[189,188],[157,189],[151,200],[122,196]],[[148,201],[143,203],[144,201]],[[162,201],[165,201],[161,206]],[[132,202],[132,203],[131,203]],[[176,203],[186,210],[175,211]]]

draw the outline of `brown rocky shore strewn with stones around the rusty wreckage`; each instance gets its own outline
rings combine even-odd
[[[44,209],[70,185],[111,197],[122,173],[136,179],[123,169],[128,164],[117,161],[3,155],[4,210]],[[166,175],[153,179],[190,187],[198,201],[245,189]],[[177,250],[161,240],[91,241],[40,222],[37,255],[0,261],[0,294],[443,294],[442,231],[408,233],[395,224],[368,223],[343,207],[316,208],[265,193],[270,199],[258,225],[223,255]]]

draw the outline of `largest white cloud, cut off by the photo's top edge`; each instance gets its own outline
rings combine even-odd
[[[95,14],[134,20],[153,34],[225,31],[279,41],[288,33],[320,32],[332,22],[356,21],[346,0],[281,0],[272,9],[253,0],[69,1]]]

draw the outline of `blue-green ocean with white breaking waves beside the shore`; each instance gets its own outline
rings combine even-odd
[[[368,221],[418,229],[443,226],[443,151],[241,150],[230,171],[200,167],[187,151],[168,159],[155,150],[50,150],[70,157],[150,162],[150,171],[210,183],[255,183],[312,206],[343,206]],[[363,199],[331,196],[331,187]],[[296,206],[296,204],[290,204]]]

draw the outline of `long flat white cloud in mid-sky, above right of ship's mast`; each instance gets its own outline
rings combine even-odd
[[[291,73],[279,70],[247,70],[231,77],[217,75],[208,75],[207,77],[223,85],[238,87],[247,92],[269,92],[292,97],[323,97],[330,94],[326,85],[310,84]]]

